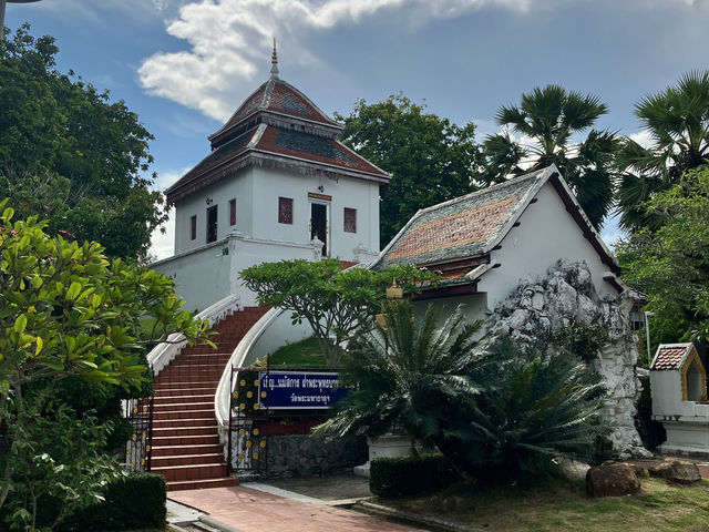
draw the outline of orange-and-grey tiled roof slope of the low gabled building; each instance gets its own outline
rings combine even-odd
[[[378,264],[421,266],[489,253],[547,171],[532,172],[419,211],[384,249]]]

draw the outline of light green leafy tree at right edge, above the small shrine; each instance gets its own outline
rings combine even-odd
[[[690,171],[645,204],[661,219],[616,247],[624,279],[647,294],[653,339],[709,339],[709,168]],[[669,338],[668,338],[669,337]]]

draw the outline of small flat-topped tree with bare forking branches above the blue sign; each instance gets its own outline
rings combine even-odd
[[[394,279],[408,291],[439,277],[412,266],[382,272],[366,268],[342,270],[332,258],[263,263],[239,273],[244,285],[257,294],[260,305],[292,311],[292,323],[306,320],[320,344],[328,366],[340,357],[342,344],[358,329],[372,324],[384,289]]]

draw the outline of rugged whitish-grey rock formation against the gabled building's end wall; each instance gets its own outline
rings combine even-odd
[[[621,458],[649,456],[635,428],[634,416],[641,385],[636,374],[638,351],[630,329],[634,294],[599,297],[585,262],[558,260],[543,279],[522,280],[514,293],[486,320],[483,347],[508,335],[531,345],[551,340],[563,327],[574,323],[603,325],[608,344],[592,368],[605,380],[609,401],[605,416],[615,424],[610,436]]]

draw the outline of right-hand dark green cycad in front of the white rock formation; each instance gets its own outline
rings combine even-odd
[[[585,364],[504,338],[487,351],[485,368],[473,430],[461,442],[471,472],[516,475],[552,470],[556,458],[592,459],[608,424],[600,418],[605,390]]]

